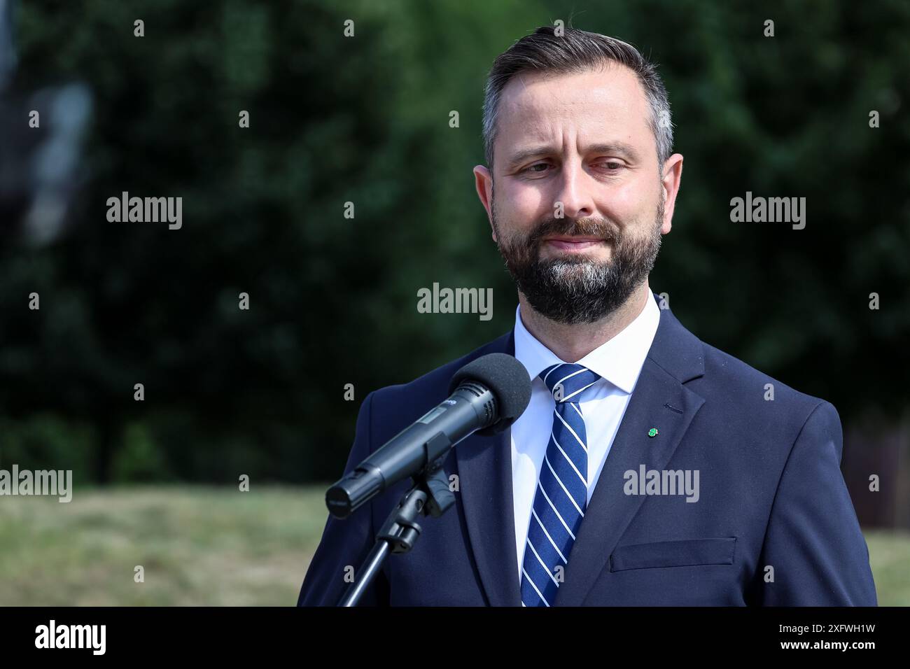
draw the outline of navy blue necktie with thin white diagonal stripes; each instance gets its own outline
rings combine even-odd
[[[600,378],[588,368],[568,362],[541,371],[556,407],[524,546],[524,606],[550,606],[569,563],[588,506],[588,437],[579,398]]]

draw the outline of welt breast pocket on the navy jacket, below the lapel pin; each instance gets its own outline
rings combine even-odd
[[[676,542],[633,543],[617,546],[610,556],[610,571],[652,567],[690,567],[700,564],[733,564],[736,537],[683,539]]]

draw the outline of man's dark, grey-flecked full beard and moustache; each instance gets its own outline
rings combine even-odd
[[[619,309],[647,279],[661,248],[662,200],[643,237],[623,233],[604,218],[550,218],[530,233],[503,238],[495,200],[492,211],[496,244],[518,289],[535,311],[566,325],[592,323]],[[549,235],[602,238],[612,245],[611,258],[600,261],[568,253],[541,258],[542,239]]]

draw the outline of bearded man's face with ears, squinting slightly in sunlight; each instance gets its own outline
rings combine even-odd
[[[503,90],[493,174],[475,168],[478,191],[512,278],[548,319],[602,319],[647,279],[682,170],[674,157],[667,188],[650,118],[623,66],[522,73]]]

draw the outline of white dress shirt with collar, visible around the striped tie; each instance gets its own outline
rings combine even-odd
[[[642,312],[622,332],[577,361],[577,364],[601,376],[579,396],[588,437],[588,502],[591,502],[591,494],[632,397],[644,359],[651,350],[660,319],[661,310],[649,293]],[[555,405],[550,390],[538,375],[550,365],[565,362],[525,329],[521,322],[521,306],[515,309],[515,357],[527,368],[531,377],[531,402],[511,426],[515,552],[521,586],[521,565],[527,546],[531,506],[537,492],[543,455],[550,442]]]

